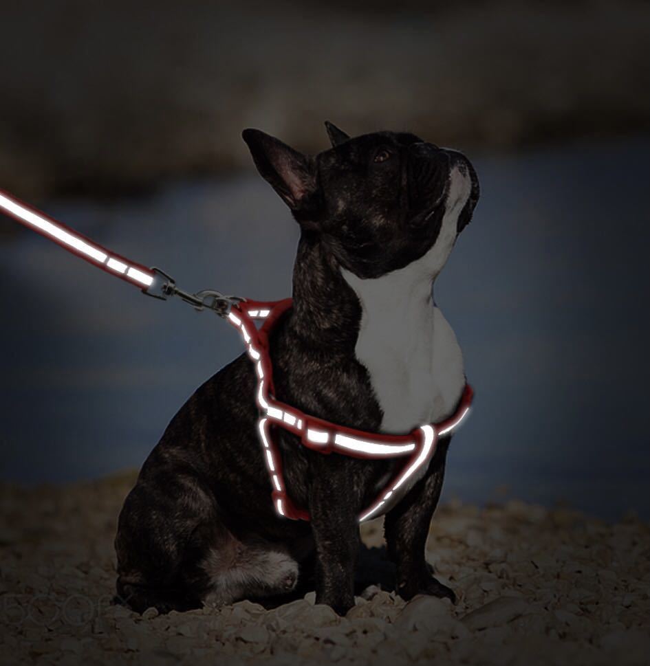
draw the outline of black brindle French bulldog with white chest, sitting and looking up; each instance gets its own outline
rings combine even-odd
[[[468,160],[409,133],[350,138],[297,153],[257,130],[243,139],[301,226],[293,307],[270,338],[277,399],[371,432],[407,433],[452,414],[464,388],[454,333],[432,284],[470,221]],[[118,595],[161,612],[285,595],[314,564],[316,601],[354,605],[358,513],[403,460],[321,455],[281,431],[285,482],[311,522],[274,511],[257,433],[256,377],[242,354],[176,414],[120,515]],[[397,590],[453,592],[424,559],[448,438],[384,522]]]

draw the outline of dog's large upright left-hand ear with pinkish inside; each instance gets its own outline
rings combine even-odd
[[[261,177],[289,208],[301,208],[305,197],[316,189],[312,159],[259,129],[245,129],[241,137],[248,144]]]

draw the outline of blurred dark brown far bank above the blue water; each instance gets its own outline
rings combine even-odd
[[[0,184],[107,193],[245,166],[246,126],[457,148],[648,129],[642,0],[3,3]]]

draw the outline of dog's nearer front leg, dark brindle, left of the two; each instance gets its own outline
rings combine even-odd
[[[316,603],[345,615],[354,606],[354,570],[360,547],[356,503],[332,476],[314,480],[310,516],[316,544]]]

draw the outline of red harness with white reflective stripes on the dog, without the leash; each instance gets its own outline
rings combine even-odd
[[[291,305],[290,298],[273,302],[246,300],[233,305],[228,314],[228,321],[239,330],[257,373],[255,399],[260,412],[257,427],[273,488],[274,507],[285,518],[310,520],[307,511],[294,505],[285,487],[282,459],[272,437],[272,428],[279,427],[298,436],[305,447],[322,454],[335,452],[354,458],[406,458],[400,471],[391,478],[378,498],[359,515],[359,522],[375,518],[400,500],[404,490],[410,487],[407,484],[409,479],[424,473],[439,438],[450,434],[466,417],[473,390],[469,384],[465,385],[458,408],[448,419],[421,425],[405,435],[354,430],[305,414],[276,400],[273,395],[268,337],[275,322]],[[254,323],[256,319],[263,320],[260,329]]]

